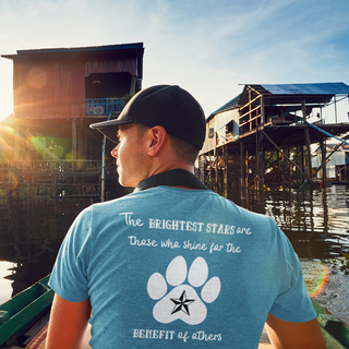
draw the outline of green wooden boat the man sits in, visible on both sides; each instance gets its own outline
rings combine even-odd
[[[0,349],[13,345],[24,345],[25,347],[25,342],[29,341],[26,347],[28,348],[38,336],[41,338],[40,340],[45,340],[46,333],[43,332],[43,327],[47,329],[49,310],[55,294],[47,285],[49,275],[0,305]],[[312,303],[327,348],[348,349],[349,326],[330,314],[314,299],[312,299]],[[263,336],[265,337],[266,334]],[[24,339],[26,340],[24,341]]]

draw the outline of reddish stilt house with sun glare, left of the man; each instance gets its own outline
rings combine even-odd
[[[118,196],[113,144],[88,125],[117,118],[142,88],[143,53],[137,43],[2,56],[13,61],[14,113],[0,123],[0,189]]]

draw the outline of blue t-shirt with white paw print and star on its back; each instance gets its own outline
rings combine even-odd
[[[208,190],[157,186],[86,208],[50,286],[91,299],[94,349],[250,349],[268,313],[315,317],[276,222]]]

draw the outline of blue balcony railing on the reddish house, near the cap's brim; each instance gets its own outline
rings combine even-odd
[[[86,99],[86,116],[108,116],[122,111],[125,101],[123,98],[91,98]]]

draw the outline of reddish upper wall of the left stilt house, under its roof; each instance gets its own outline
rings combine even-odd
[[[130,72],[136,56],[21,55],[13,60],[14,117],[69,119],[85,117],[85,77],[91,73]]]

